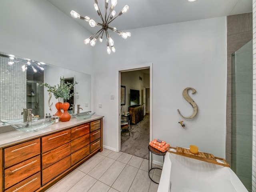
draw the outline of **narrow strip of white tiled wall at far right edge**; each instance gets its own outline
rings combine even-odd
[[[252,192],[256,191],[256,0],[252,0]]]

